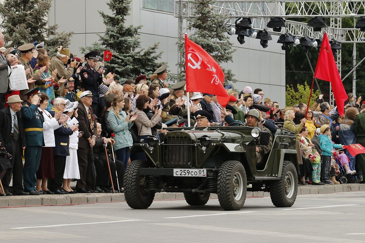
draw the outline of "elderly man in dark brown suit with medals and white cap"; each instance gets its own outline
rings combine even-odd
[[[85,188],[92,188],[91,166],[92,147],[95,145],[97,136],[96,121],[93,118],[91,104],[93,94],[91,91],[84,91],[80,95],[80,102],[77,106],[78,129],[84,133],[78,140],[77,160],[80,169],[80,179],[77,180],[76,190],[79,193],[90,193]],[[97,191],[95,191],[97,192]]]

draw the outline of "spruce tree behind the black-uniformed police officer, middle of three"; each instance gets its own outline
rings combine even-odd
[[[100,43],[82,47],[80,51],[86,53],[91,50],[100,52],[109,50],[112,58],[105,62],[108,71],[115,72],[115,79],[135,79],[138,75],[150,75],[162,64],[156,60],[162,52],[157,53],[158,43],[146,49],[141,48],[138,31],[142,26],[126,26],[126,16],[129,15],[131,0],[110,0],[109,8],[113,12],[107,15],[99,11],[106,26],[105,34],[100,35]]]

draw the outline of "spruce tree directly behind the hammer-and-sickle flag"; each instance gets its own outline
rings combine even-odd
[[[214,12],[211,7],[215,0],[194,0],[195,11],[193,17],[189,19],[189,29],[192,34],[189,39],[201,46],[207,51],[218,64],[233,61],[232,54],[236,50],[232,48],[233,43],[227,35],[226,17]],[[183,38],[180,36],[180,38]],[[179,44],[180,53],[184,53],[184,43]],[[183,55],[184,56],[184,55]],[[185,62],[178,63],[183,70]],[[224,72],[224,85],[235,83],[238,80],[234,78],[231,69],[222,68]],[[177,75],[178,81],[185,80],[185,71]]]

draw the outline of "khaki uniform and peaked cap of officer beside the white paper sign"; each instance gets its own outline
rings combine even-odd
[[[27,53],[30,52],[34,49],[34,44],[24,44],[22,46],[18,47],[18,51],[22,52],[22,53]],[[27,90],[20,90],[20,99],[26,101],[27,100],[27,96],[25,95],[29,90],[32,90],[35,88],[35,85],[42,85],[43,83],[43,79],[41,79],[41,74],[34,74],[34,70],[33,68],[30,66],[30,63],[27,60],[24,60],[23,58],[19,58],[18,64],[23,65],[24,69],[30,69],[29,74],[27,75],[27,79],[30,79],[33,77],[33,79],[35,80],[34,83],[28,83],[28,88]]]

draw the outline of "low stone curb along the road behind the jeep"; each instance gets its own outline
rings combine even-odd
[[[341,184],[341,185],[319,185],[299,186],[299,194],[327,194],[335,192],[365,191],[365,184]],[[246,197],[270,196],[269,192],[247,192]],[[212,193],[210,198],[217,198]],[[155,194],[154,200],[176,200],[184,199],[184,193],[160,192]],[[37,205],[74,205],[100,202],[125,201],[124,193],[86,193],[72,195],[39,195],[39,196],[0,196],[1,207],[24,207]]]

